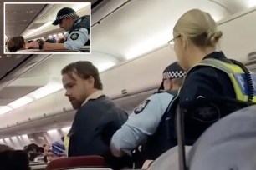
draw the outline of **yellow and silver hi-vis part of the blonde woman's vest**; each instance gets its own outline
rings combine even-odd
[[[200,66],[214,67],[227,73],[233,84],[236,99],[239,101],[248,102],[249,87],[246,79],[247,77],[241,67],[233,63],[220,61],[218,59],[207,58],[202,60],[202,62],[199,62],[195,67],[192,67],[192,69]],[[187,72],[187,75],[188,74],[189,72]],[[253,102],[256,102],[256,74],[251,74],[251,76],[253,79]]]

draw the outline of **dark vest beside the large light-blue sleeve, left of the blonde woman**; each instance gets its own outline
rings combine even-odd
[[[161,122],[156,129],[156,133],[148,137],[146,143],[142,144],[141,146],[141,157],[143,163],[146,159],[155,160],[162,153],[165,153],[169,148],[177,145],[176,142],[172,143],[171,140],[173,137],[173,134],[171,134],[170,131],[170,129],[172,129],[172,112],[169,111],[173,105],[173,102],[175,102],[175,99],[177,98],[177,91],[170,91],[168,93],[174,97],[167,107],[166,112],[164,112],[162,115]]]

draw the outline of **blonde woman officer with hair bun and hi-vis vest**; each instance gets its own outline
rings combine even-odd
[[[184,13],[173,28],[174,51],[188,71],[178,105],[184,113],[185,140],[190,144],[213,122],[240,109],[240,102],[256,101],[248,69],[216,50],[222,35],[211,15],[198,9]],[[202,99],[212,102],[202,104]]]

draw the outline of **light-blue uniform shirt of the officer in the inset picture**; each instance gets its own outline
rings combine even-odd
[[[83,18],[79,18],[75,23],[77,24],[82,22]],[[72,28],[73,29],[73,28]],[[70,50],[79,50],[84,47],[84,44],[89,40],[89,32],[87,28],[75,28],[72,32],[69,33],[67,41],[64,42],[64,47]]]

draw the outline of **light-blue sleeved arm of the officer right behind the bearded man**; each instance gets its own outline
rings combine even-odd
[[[110,142],[110,149],[116,157],[124,153],[130,154],[134,148],[143,143],[149,135],[156,133],[161,122],[161,116],[172,101],[169,93],[157,93],[132,112],[131,117],[114,134]]]

